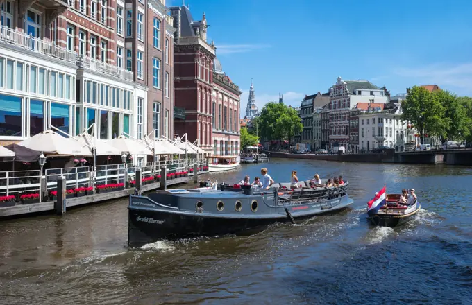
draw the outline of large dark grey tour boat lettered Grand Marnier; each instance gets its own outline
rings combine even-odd
[[[274,184],[268,191],[250,186],[219,189],[168,189],[147,196],[130,195],[128,245],[222,234],[251,234],[273,223],[296,223],[345,209],[353,203],[348,184],[289,189]]]

